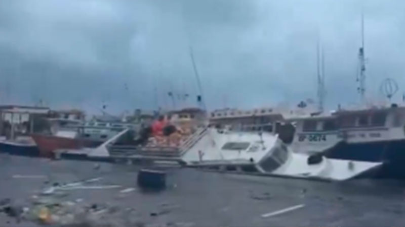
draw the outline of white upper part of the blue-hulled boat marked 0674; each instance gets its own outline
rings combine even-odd
[[[289,120],[296,125],[296,152],[316,153],[341,141],[366,143],[405,139],[405,107],[340,110],[330,116]]]

